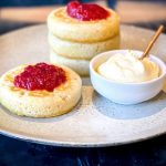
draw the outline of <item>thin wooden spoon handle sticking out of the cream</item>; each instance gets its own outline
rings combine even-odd
[[[162,25],[159,25],[158,30],[154,34],[153,39],[149,41],[146,50],[144,51],[144,53],[142,54],[139,60],[143,60],[144,58],[148,56],[148,52],[151,51],[153,44],[155,43],[155,41],[157,40],[157,38],[159,37],[159,34],[162,33],[163,30],[164,30],[164,25],[162,24]]]

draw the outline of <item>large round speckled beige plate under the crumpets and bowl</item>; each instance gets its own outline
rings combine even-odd
[[[153,31],[122,25],[122,49],[143,50]],[[21,63],[49,61],[46,25],[0,37],[0,74]],[[152,53],[166,61],[166,35]],[[124,106],[98,95],[83,79],[82,98],[70,113],[53,118],[20,117],[0,106],[0,133],[56,146],[112,146],[146,139],[166,132],[166,94]]]

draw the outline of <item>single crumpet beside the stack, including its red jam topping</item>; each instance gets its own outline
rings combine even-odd
[[[17,115],[52,117],[76,105],[81,87],[80,76],[66,66],[20,65],[0,77],[0,103]]]

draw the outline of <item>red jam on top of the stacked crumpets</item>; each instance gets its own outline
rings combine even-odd
[[[68,3],[66,12],[70,17],[81,21],[93,21],[106,19],[110,13],[102,7],[93,3],[80,3],[79,1],[72,1]]]

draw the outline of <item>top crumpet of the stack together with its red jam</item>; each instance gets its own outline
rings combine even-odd
[[[100,42],[120,33],[118,14],[93,3],[70,2],[48,17],[49,31],[74,42]]]

